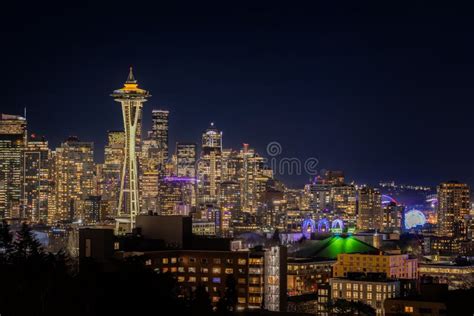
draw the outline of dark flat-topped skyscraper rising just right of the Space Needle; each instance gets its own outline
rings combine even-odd
[[[169,126],[169,111],[153,110],[152,116],[152,131],[150,133],[151,139],[156,141],[158,148],[159,164],[164,164],[169,158],[168,150],[168,126]]]

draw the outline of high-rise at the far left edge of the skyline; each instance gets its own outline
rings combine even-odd
[[[26,143],[26,119],[0,115],[0,217],[19,217],[21,205],[22,151]]]

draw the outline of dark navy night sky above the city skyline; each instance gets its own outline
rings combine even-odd
[[[145,128],[153,108],[171,112],[172,151],[215,122],[224,147],[278,141],[281,157],[358,182],[474,184],[472,8],[328,2],[2,4],[0,109],[26,106],[53,146],[94,141],[101,161],[122,128],[109,95],[133,65],[153,95]]]

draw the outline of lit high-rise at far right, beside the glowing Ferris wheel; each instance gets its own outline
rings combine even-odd
[[[465,183],[457,181],[438,185],[438,235],[463,236],[464,216],[470,212],[470,190]]]

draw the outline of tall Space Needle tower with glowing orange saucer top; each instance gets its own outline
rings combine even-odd
[[[132,68],[124,87],[115,90],[112,97],[122,105],[125,129],[125,155],[120,177],[120,196],[118,215],[126,215],[130,220],[130,229],[135,227],[135,217],[140,211],[138,191],[138,163],[136,140],[139,134],[139,120],[143,103],[151,95],[148,91],[138,88]]]

